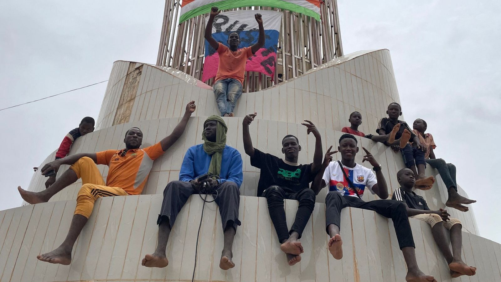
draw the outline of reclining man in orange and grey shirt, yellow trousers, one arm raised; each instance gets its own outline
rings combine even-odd
[[[162,156],[163,152],[167,151],[181,136],[191,113],[194,111],[195,101],[191,101],[186,105],[184,116],[172,130],[172,133],[153,146],[140,149],[143,132],[138,127],[132,127],[125,132],[125,149],[74,154],[55,160],[41,169],[43,175],[51,171],[57,172],[61,165],[71,165],[71,167],[48,189],[41,192],[30,192],[18,187],[21,197],[26,202],[37,204],[49,201],[56,193],[79,178],[82,179],[82,188],[78,192],[75,214],[66,239],[55,250],[38,255],[37,258],[50,263],[70,264],[73,245],[92,213],[94,202],[100,197],[141,194],[148,180],[153,161]],[[96,164],[109,166],[106,183]]]

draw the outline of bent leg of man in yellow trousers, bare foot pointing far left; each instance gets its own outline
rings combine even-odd
[[[106,185],[94,161],[91,158],[83,157],[66,170],[49,188],[40,192],[26,191],[21,187],[18,187],[18,190],[23,200],[29,204],[45,203],[56,193],[75,183],[79,178],[82,178],[82,185],[86,183]]]

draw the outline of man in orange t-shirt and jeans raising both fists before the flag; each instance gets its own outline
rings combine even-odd
[[[221,116],[233,116],[235,103],[242,95],[245,63],[249,57],[252,57],[265,45],[265,28],[261,14],[256,14],[256,22],[259,25],[258,42],[253,46],[238,49],[240,37],[233,32],[228,36],[228,48],[212,37],[212,22],[219,13],[221,11],[218,11],[217,7],[212,7],[207,27],[205,27],[205,39],[219,54],[219,67],[213,86],[217,107]]]

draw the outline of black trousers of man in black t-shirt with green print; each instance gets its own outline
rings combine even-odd
[[[310,219],[313,208],[315,208],[315,192],[313,192],[312,189],[305,188],[296,193],[288,193],[286,192],[287,190],[287,188],[273,185],[268,187],[264,193],[268,201],[270,217],[281,243],[289,239],[289,235],[293,231],[298,232],[299,238],[301,238],[301,234],[303,234],[303,230],[305,230],[305,226]],[[296,219],[290,231],[287,228],[284,199],[299,201]]]

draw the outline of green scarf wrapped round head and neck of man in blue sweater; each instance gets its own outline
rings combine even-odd
[[[205,153],[207,153],[209,156],[212,156],[212,158],[210,159],[208,174],[219,176],[219,173],[221,172],[222,150],[224,149],[224,146],[226,146],[226,131],[228,131],[228,127],[226,126],[226,123],[224,123],[224,120],[217,115],[211,115],[207,117],[207,119],[203,122],[204,127],[205,123],[209,120],[217,121],[216,142],[210,142],[209,140],[207,140],[207,137],[205,137],[204,134],[205,130],[203,130],[203,151],[205,151]]]

